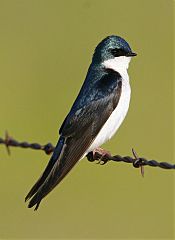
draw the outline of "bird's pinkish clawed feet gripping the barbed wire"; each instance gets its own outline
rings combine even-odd
[[[87,159],[90,162],[93,162],[95,160],[98,160],[97,164],[104,165],[109,161],[109,158],[111,157],[110,152],[102,149],[102,148],[96,148],[92,152],[87,154]]]

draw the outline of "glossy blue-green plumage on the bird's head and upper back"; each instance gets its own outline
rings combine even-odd
[[[106,89],[103,88],[103,91],[100,91],[100,88],[97,84],[98,82],[102,81],[106,75],[109,74],[104,68],[103,62],[113,58],[110,49],[122,49],[126,53],[132,53],[129,44],[119,36],[108,36],[97,45],[85,81],[67,116],[67,119],[64,121],[64,125],[77,110],[90,104],[90,102],[103,97],[103,95],[110,93],[110,91],[116,87],[117,82],[116,79],[114,81],[113,78],[110,80],[108,79],[109,81],[108,84],[106,84]],[[119,74],[118,78],[120,78]],[[63,125],[61,129],[62,128]]]

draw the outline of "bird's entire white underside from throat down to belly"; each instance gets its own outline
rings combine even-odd
[[[117,129],[123,122],[129,108],[131,89],[129,84],[129,76],[127,73],[128,64],[130,62],[129,57],[117,57],[104,62],[106,68],[113,69],[120,73],[122,77],[122,90],[120,99],[117,107],[110,115],[109,119],[106,121],[97,137],[87,149],[86,153],[83,155],[85,157],[89,152],[100,147],[103,143],[112,138],[116,133]],[[100,117],[100,116],[99,116]],[[83,158],[82,157],[82,158]]]

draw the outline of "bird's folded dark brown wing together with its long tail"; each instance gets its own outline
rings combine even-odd
[[[109,77],[109,76],[108,76]],[[101,79],[98,88],[104,92],[106,77]],[[109,80],[109,79],[108,79]],[[111,83],[112,84],[112,83]],[[121,94],[121,80],[113,79],[113,88],[108,94],[91,101],[89,105],[68,116],[61,128],[61,137],[54,153],[40,179],[26,197],[31,198],[29,207],[38,208],[41,200],[66,176],[77,161],[84,155],[100,129],[116,108]],[[109,90],[109,88],[108,88]]]

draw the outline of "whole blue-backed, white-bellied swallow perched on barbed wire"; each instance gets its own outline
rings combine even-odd
[[[127,69],[133,52],[122,37],[105,37],[95,48],[84,83],[59,129],[59,139],[43,174],[27,194],[28,207],[41,200],[87,154],[111,139],[129,108]]]

